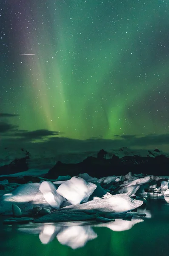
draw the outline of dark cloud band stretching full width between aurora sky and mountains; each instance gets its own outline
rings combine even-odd
[[[169,134],[148,134],[137,135],[115,135],[112,140],[105,140],[100,137],[92,137],[88,140],[75,140],[63,136],[58,131],[41,129],[36,131],[19,130],[17,126],[0,122],[1,143],[6,145],[22,145],[22,147],[45,148],[54,152],[84,152],[98,151],[101,148],[111,151],[112,149],[128,148],[169,148]],[[59,135],[59,136],[58,136]],[[41,141],[40,141],[41,140]],[[32,143],[33,141],[38,141]],[[26,148],[27,149],[27,148]],[[166,151],[166,150],[165,150]],[[169,151],[169,149],[167,150]]]

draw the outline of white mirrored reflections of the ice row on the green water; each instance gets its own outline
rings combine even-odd
[[[124,231],[131,229],[135,224],[143,222],[142,218],[133,217],[131,220],[115,219],[108,223],[54,223],[54,224],[34,224],[30,223],[17,230],[24,233],[39,234],[42,244],[48,244],[57,238],[60,244],[67,245],[72,249],[84,247],[88,241],[97,238],[97,233],[93,227],[107,227],[113,231]],[[38,225],[38,226],[36,226]]]

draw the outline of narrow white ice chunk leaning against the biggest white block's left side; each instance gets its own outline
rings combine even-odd
[[[43,181],[40,184],[39,190],[51,207],[55,209],[60,208],[64,198],[56,192],[55,186],[51,181]]]

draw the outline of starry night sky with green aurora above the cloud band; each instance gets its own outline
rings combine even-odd
[[[168,14],[167,0],[2,0],[1,139],[169,151]]]

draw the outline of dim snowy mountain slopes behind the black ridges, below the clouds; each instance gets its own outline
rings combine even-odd
[[[101,149],[101,148],[100,148]],[[100,150],[98,149],[98,151]],[[106,150],[106,148],[104,148]],[[80,163],[86,157],[92,156],[97,157],[98,151],[86,151],[86,152],[54,152],[54,151],[29,151],[30,159],[27,160],[29,165],[29,169],[32,171],[35,170],[44,170],[51,169],[57,161],[61,161],[62,163]],[[106,158],[112,158],[113,154],[122,158],[125,156],[140,156],[140,157],[156,157],[158,155],[165,155],[169,157],[169,153],[165,153],[160,150],[146,150],[146,149],[131,149],[131,148],[120,148],[120,149],[112,149],[106,154]],[[1,148],[0,149],[0,166],[11,163],[15,158],[25,157],[26,151],[10,150],[10,148]]]

